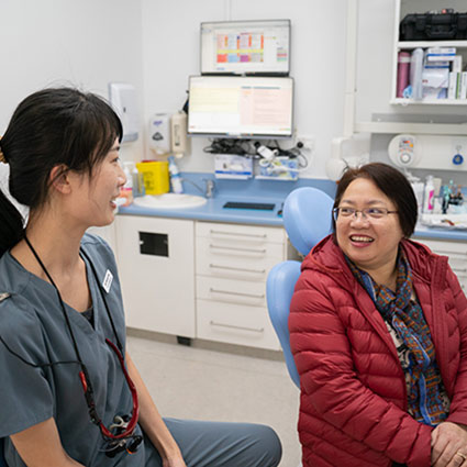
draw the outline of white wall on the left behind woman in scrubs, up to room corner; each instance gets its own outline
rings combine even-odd
[[[18,103],[49,86],[108,97],[109,81],[131,82],[143,109],[138,0],[1,0],[0,135]],[[142,145],[123,148],[141,158]]]

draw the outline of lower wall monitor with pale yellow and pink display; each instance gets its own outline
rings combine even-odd
[[[293,79],[192,76],[188,134],[278,138],[292,135]]]

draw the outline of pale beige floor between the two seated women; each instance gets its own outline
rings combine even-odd
[[[299,390],[280,353],[198,341],[186,346],[135,330],[127,348],[163,416],[267,424],[282,442],[280,467],[299,465]]]

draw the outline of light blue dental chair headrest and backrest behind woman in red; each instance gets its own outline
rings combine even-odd
[[[302,255],[331,233],[333,204],[330,196],[311,187],[298,188],[286,198],[283,226],[291,244]],[[301,263],[294,260],[279,263],[269,271],[266,281],[269,318],[282,347],[290,378],[299,388],[300,377],[290,351],[288,320],[300,266]]]

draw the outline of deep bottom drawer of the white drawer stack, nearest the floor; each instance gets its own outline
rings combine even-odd
[[[197,300],[197,336],[280,351],[279,340],[266,308]]]

